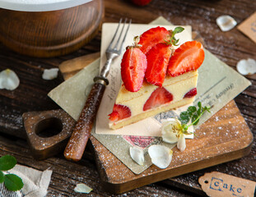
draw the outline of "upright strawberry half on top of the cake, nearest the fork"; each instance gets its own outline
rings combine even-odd
[[[121,62],[121,76],[128,91],[137,92],[142,87],[146,68],[146,55],[139,48],[127,48]]]

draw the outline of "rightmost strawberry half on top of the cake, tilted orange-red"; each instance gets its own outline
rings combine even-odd
[[[188,71],[197,70],[204,60],[202,44],[197,41],[189,41],[182,44],[170,57],[167,72],[170,76],[179,76]]]

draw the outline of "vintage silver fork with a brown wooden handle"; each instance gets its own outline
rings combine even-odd
[[[79,161],[84,150],[86,149],[87,141],[89,140],[89,137],[91,135],[91,128],[100,107],[101,99],[105,92],[105,86],[109,84],[107,76],[109,75],[111,62],[122,52],[123,43],[126,39],[131,20],[129,21],[128,27],[123,35],[123,30],[126,22],[127,19],[125,19],[123,23],[123,28],[118,34],[120,24],[122,23],[122,19],[120,19],[117,30],[114,33],[114,37],[106,50],[107,61],[105,62],[105,65],[100,71],[100,76],[95,76],[94,78],[95,83],[91,88],[91,93],[86,100],[84,108],[81,110],[80,117],[77,121],[76,126],[74,127],[72,135],[64,151],[64,156],[68,160]],[[117,41],[115,41],[115,39],[117,39]],[[120,41],[121,39],[122,41]]]

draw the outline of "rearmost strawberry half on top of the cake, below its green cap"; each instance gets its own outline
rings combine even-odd
[[[170,40],[170,32],[164,27],[155,27],[150,30],[145,31],[141,37],[138,44],[141,44],[141,50],[143,53],[147,52],[156,44],[165,43],[165,40]]]

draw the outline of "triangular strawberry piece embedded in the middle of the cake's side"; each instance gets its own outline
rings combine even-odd
[[[147,99],[147,102],[143,106],[143,111],[147,111],[151,108],[157,108],[162,104],[169,103],[173,100],[173,95],[170,94],[165,88],[157,88],[152,92],[151,96]]]

